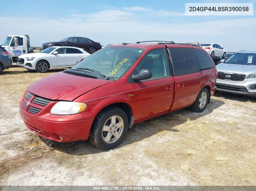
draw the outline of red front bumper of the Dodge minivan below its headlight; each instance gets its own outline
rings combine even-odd
[[[55,103],[51,102],[39,113],[32,114],[23,109],[21,102],[20,114],[26,127],[39,136],[57,142],[87,140],[94,118],[83,119],[81,113],[66,116],[51,114],[50,109]]]

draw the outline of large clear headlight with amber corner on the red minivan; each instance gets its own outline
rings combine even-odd
[[[86,103],[59,101],[52,107],[51,113],[56,115],[72,115],[84,111],[86,107]]]

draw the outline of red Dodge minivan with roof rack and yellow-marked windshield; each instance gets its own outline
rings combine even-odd
[[[193,44],[123,43],[30,85],[20,113],[41,137],[57,142],[90,138],[108,150],[135,123],[184,107],[203,112],[216,79],[213,60]]]

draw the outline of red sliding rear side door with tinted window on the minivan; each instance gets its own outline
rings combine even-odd
[[[175,101],[171,111],[191,105],[200,91],[200,66],[193,48],[168,48],[176,79]]]

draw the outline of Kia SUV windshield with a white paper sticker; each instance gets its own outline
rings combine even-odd
[[[235,53],[224,63],[256,65],[256,53]]]

